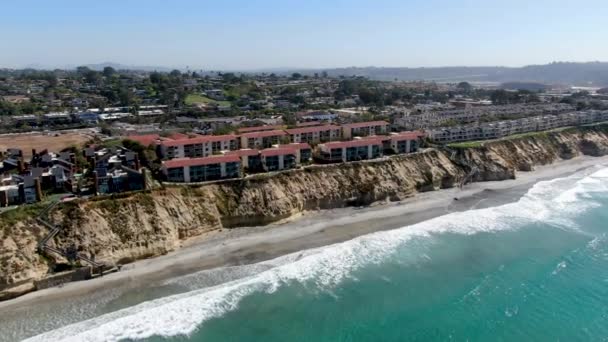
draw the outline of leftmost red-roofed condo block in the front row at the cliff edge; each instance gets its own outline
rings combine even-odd
[[[178,158],[164,161],[161,170],[167,181],[176,183],[239,178],[241,159],[237,155]]]

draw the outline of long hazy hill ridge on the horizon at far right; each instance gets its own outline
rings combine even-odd
[[[304,74],[326,71],[330,76],[364,76],[392,81],[427,80],[437,82],[534,82],[542,84],[572,84],[608,86],[608,63],[556,62],[546,65],[509,67],[438,67],[438,68],[378,68],[352,67],[337,69],[299,70]]]

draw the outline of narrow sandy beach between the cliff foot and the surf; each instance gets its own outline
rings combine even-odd
[[[399,203],[310,212],[264,227],[224,229],[186,241],[183,248],[165,256],[125,265],[120,272],[102,278],[69,283],[2,302],[0,315],[119,284],[137,287],[205,269],[257,263],[375,231],[405,227],[450,212],[514,202],[539,181],[565,177],[601,164],[608,164],[608,157],[578,157],[537,167],[532,172],[519,172],[515,180],[427,192]]]

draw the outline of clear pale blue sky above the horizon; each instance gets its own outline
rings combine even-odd
[[[0,0],[0,68],[608,61],[606,0]]]

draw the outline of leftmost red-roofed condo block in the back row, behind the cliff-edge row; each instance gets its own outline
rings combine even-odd
[[[200,158],[237,148],[236,135],[199,135],[188,139],[164,140],[160,143],[160,154],[163,159]]]

